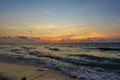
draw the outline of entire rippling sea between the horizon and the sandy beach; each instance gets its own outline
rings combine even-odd
[[[0,44],[11,55],[85,80],[120,80],[120,43]]]

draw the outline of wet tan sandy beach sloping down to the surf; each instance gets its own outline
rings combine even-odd
[[[77,80],[60,71],[0,54],[0,80]]]

